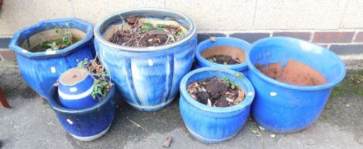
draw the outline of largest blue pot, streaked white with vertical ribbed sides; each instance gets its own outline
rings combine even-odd
[[[117,45],[105,40],[104,34],[110,26],[121,24],[120,16],[174,20],[189,29],[189,33],[175,43],[157,47]],[[101,62],[128,104],[141,111],[156,111],[172,103],[181,77],[190,71],[194,59],[196,27],[190,18],[167,9],[131,9],[104,18],[97,23],[94,35]]]

